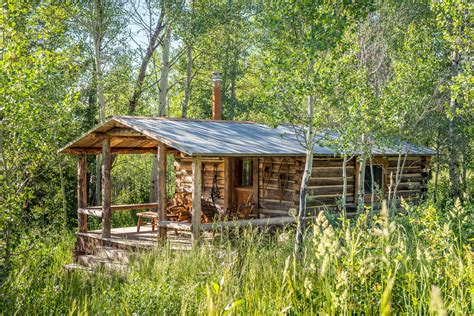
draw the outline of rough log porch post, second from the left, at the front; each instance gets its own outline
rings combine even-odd
[[[111,183],[110,183],[110,138],[102,140],[102,237],[110,237],[112,211],[111,204]]]

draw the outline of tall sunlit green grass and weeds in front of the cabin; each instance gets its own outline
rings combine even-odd
[[[73,235],[48,236],[16,258],[0,308],[72,315],[472,313],[472,207],[405,209],[356,221],[321,213],[298,258],[292,229],[244,229],[191,252],[157,248],[126,273],[67,273]]]

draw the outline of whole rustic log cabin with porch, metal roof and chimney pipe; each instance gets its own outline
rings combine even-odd
[[[144,245],[154,242],[155,237],[166,238],[170,231],[189,232],[191,240],[196,241],[202,232],[213,227],[295,222],[291,212],[298,208],[306,149],[291,126],[272,128],[260,123],[221,120],[219,86],[217,78],[212,120],[114,116],[60,150],[60,153],[78,157],[77,248],[80,253],[90,251],[94,243],[130,246],[127,239],[128,242],[140,239],[139,233],[153,236],[142,238],[140,242]],[[337,134],[329,136],[334,138]],[[373,178],[367,169],[363,191],[358,188],[361,166],[356,155],[347,161],[343,172],[341,155],[329,146],[316,145],[306,215],[314,215],[322,209],[338,209],[344,173],[349,209],[355,207],[358,192],[364,192],[367,202],[374,187],[378,190],[377,201],[386,197],[392,193],[400,154],[404,163],[397,178],[397,195],[409,200],[420,199],[426,192],[429,162],[435,152],[408,143],[399,145],[396,149],[373,149]],[[99,154],[103,157],[102,205],[89,206],[87,155]],[[111,157],[120,154],[157,156],[154,201],[111,204]],[[172,165],[167,164],[169,156],[174,158]],[[370,168],[369,164],[365,168]],[[166,179],[170,172],[176,179],[174,197],[166,196],[169,185]],[[156,221],[152,232],[148,229],[135,233],[134,227],[112,228],[111,213],[124,210],[154,210]],[[89,216],[101,218],[101,230],[88,231]]]

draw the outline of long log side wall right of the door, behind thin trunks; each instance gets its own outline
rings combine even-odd
[[[384,162],[384,197],[388,195],[390,179],[392,178],[393,183],[395,182],[397,159],[398,157],[378,158],[378,161]],[[342,164],[342,158],[314,158],[307,196],[307,206],[310,213],[321,208],[328,208],[330,210],[337,208],[343,193],[344,178],[342,175]],[[290,208],[298,208],[298,195],[303,167],[304,158],[302,157],[259,159],[259,208],[262,214],[281,216],[288,214],[288,209]],[[268,170],[269,168],[271,168],[271,173]],[[279,179],[285,170],[288,170],[289,178],[284,194],[281,194],[281,180]],[[419,199],[426,192],[428,174],[428,157],[407,157],[397,189],[397,195],[411,201]],[[357,192],[355,159],[347,162],[346,175],[346,203],[348,205],[355,205]],[[370,203],[370,194],[366,195],[365,200],[367,203]]]

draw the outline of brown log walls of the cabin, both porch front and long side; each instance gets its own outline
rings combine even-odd
[[[377,158],[384,160],[384,196],[389,186],[395,182],[398,157]],[[220,199],[216,206],[224,211],[224,158],[205,158],[203,164],[203,197],[210,198],[214,166],[217,166],[217,182]],[[312,176],[308,185],[308,212],[313,214],[322,208],[335,210],[342,198],[344,179],[342,176],[342,158],[315,157]],[[192,191],[191,158],[175,161],[176,191]],[[260,157],[258,158],[258,209],[261,216],[287,216],[289,209],[298,208],[301,177],[304,169],[304,157]],[[357,181],[356,161],[347,162],[348,205],[355,205]],[[429,174],[429,157],[409,156],[406,159],[397,195],[408,200],[417,200],[426,192]],[[254,173],[255,175],[255,173]],[[370,195],[366,195],[370,203]]]

